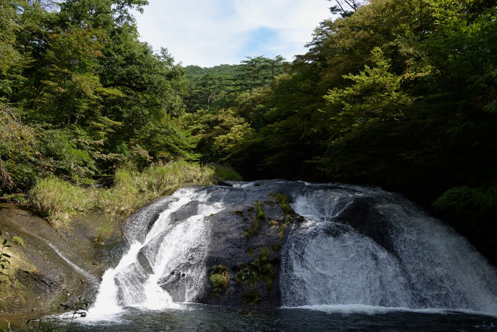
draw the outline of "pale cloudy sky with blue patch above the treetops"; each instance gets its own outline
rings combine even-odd
[[[326,0],[149,0],[136,20],[140,40],[166,47],[176,63],[213,67],[246,57],[306,53],[331,16]]]

